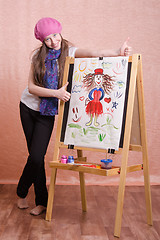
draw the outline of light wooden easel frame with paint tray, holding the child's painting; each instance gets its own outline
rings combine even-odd
[[[67,148],[67,146],[64,145],[64,143],[60,141],[62,121],[63,121],[63,112],[64,112],[64,103],[60,102],[58,125],[57,125],[57,132],[56,132],[56,141],[55,141],[55,147],[54,147],[54,156],[53,156],[53,161],[50,162],[50,167],[52,168],[52,171],[51,171],[51,179],[50,179],[50,186],[49,186],[49,196],[48,196],[46,220],[51,221],[51,217],[52,217],[52,208],[53,208],[53,199],[54,199],[57,169],[65,169],[65,170],[79,172],[80,188],[81,188],[81,201],[82,201],[82,210],[83,211],[87,211],[84,173],[96,174],[96,175],[101,175],[101,176],[113,176],[113,175],[120,174],[119,191],[118,191],[118,199],[117,199],[117,210],[116,210],[116,219],[115,219],[115,229],[114,229],[114,236],[120,237],[126,174],[129,172],[143,170],[147,223],[149,225],[152,225],[152,206],[151,206],[147,135],[146,135],[144,95],[143,95],[142,57],[140,54],[134,54],[132,57],[129,58],[129,62],[132,63],[132,66],[131,66],[131,74],[130,74],[130,85],[129,85],[129,92],[128,92],[128,103],[127,103],[127,112],[126,112],[126,120],[125,120],[123,147],[121,149],[119,149],[119,151],[117,152],[119,154],[122,154],[122,162],[121,162],[120,167],[112,167],[112,169],[107,170],[107,169],[90,168],[90,167],[81,166],[81,165],[78,166],[78,165],[62,164],[58,161],[60,148]],[[63,84],[65,84],[68,80],[70,64],[74,64],[74,58],[67,57],[66,64],[65,64],[65,70],[64,70]],[[138,99],[137,104],[138,104],[139,130],[140,130],[140,143],[137,145],[130,143],[131,130],[133,127],[132,120],[133,120],[136,92],[137,92],[137,99]],[[93,149],[93,148],[84,148],[84,147],[76,147],[76,146],[74,147],[74,149],[77,150],[77,160],[78,161],[86,161],[86,158],[83,157],[82,150],[99,151],[99,152],[104,152],[104,153],[106,152],[106,150],[103,150],[103,149]],[[143,163],[128,166],[129,150],[142,152]]]

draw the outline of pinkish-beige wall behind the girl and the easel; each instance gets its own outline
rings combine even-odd
[[[134,53],[143,56],[144,95],[151,183],[159,184],[160,149],[160,1],[159,0],[0,0],[0,182],[17,182],[27,158],[19,118],[19,100],[27,85],[29,55],[38,46],[33,28],[41,17],[57,18],[63,36],[78,47],[118,48],[129,36]],[[55,130],[46,155],[52,160]],[[104,154],[86,152],[90,161]],[[131,153],[129,164],[141,161]],[[116,158],[115,163],[120,163]],[[77,173],[59,171],[59,184],[75,184]],[[119,177],[86,175],[88,184],[117,184]],[[143,175],[127,175],[127,184],[142,184]]]

